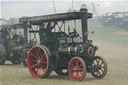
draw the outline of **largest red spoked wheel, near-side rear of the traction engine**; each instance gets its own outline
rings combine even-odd
[[[50,56],[44,47],[32,47],[28,55],[27,64],[31,75],[36,78],[47,77],[51,72]]]

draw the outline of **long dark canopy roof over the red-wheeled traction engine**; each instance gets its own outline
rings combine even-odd
[[[91,13],[69,12],[69,13],[60,13],[60,14],[43,15],[43,16],[22,17],[19,19],[19,21],[20,22],[30,22],[30,23],[36,23],[36,22],[39,23],[39,22],[75,20],[75,19],[81,19],[82,14],[87,14],[88,18],[92,18]]]

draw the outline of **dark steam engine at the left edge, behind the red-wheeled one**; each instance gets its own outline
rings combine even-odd
[[[26,40],[26,29],[22,24],[5,25],[0,29],[0,65],[7,60],[13,64],[24,62],[23,50],[30,48]],[[24,34],[22,34],[24,33]]]

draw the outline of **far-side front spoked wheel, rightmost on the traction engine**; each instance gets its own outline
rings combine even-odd
[[[107,73],[107,63],[103,57],[95,56],[92,67],[92,76],[98,79],[104,78]]]

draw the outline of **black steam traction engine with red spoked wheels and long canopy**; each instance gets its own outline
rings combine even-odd
[[[49,33],[51,37],[47,46],[40,42],[40,45],[33,46],[29,51],[28,68],[31,75],[45,78],[51,71],[55,71],[60,76],[69,75],[72,80],[79,81],[88,72],[102,79],[107,73],[107,64],[104,58],[95,56],[98,47],[92,44],[92,40],[88,40],[87,19],[91,17],[87,9],[81,9],[80,12],[20,18],[20,22],[31,25],[62,22],[61,26],[57,24],[59,31]],[[66,33],[65,21],[73,20],[81,21],[82,37],[76,31],[78,28]],[[62,25],[64,31],[61,30]]]

